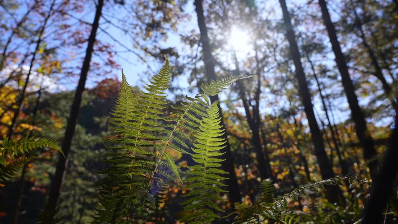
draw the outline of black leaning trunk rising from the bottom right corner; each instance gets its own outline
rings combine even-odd
[[[392,195],[394,181],[398,174],[398,115],[395,117],[394,126],[380,173],[373,178],[371,196],[363,210],[361,224],[379,223],[388,198]]]

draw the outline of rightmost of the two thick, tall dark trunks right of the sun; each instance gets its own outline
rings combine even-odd
[[[336,30],[334,29],[332,20],[330,19],[330,14],[325,0],[319,0],[319,5],[322,11],[322,19],[324,21],[326,29],[328,30],[330,43],[332,44],[332,49],[335,55],[335,61],[341,75],[341,82],[343,84],[344,91],[347,96],[347,101],[351,109],[351,117],[355,123],[359,142],[363,146],[363,157],[365,158],[365,160],[370,160],[375,155],[377,155],[373,139],[366,126],[365,116],[361,108],[359,107],[358,98],[357,95],[355,94],[354,85],[349,76],[347,63],[345,62],[345,57],[343,55],[343,52],[341,51],[340,43],[336,35]],[[377,173],[377,167],[378,167],[377,159],[370,160],[369,169],[371,171],[372,177],[375,177]]]

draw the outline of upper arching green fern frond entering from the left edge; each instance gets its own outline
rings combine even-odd
[[[13,160],[18,153],[23,154],[33,149],[50,147],[53,149],[57,149],[62,153],[61,148],[58,143],[53,140],[48,140],[45,138],[35,138],[26,136],[20,140],[5,138],[2,142],[2,147],[0,148],[0,165],[6,165],[6,154],[10,156],[10,159]],[[62,153],[63,154],[63,153]]]

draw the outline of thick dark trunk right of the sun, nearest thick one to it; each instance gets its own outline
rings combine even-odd
[[[320,167],[320,172],[322,179],[330,179],[335,177],[332,165],[328,160],[328,156],[325,152],[325,146],[322,138],[322,134],[319,130],[318,124],[316,122],[310,91],[308,90],[307,81],[305,79],[304,70],[301,64],[301,56],[298,51],[297,41],[293,27],[291,24],[291,18],[289,11],[287,10],[285,0],[279,0],[281,4],[283,20],[285,22],[286,37],[289,41],[291,55],[296,68],[296,78],[299,85],[299,92],[301,96],[302,103],[304,105],[304,111],[307,116],[308,125],[310,126],[312,143],[314,144],[315,155],[318,159],[318,164]],[[341,198],[341,191],[338,186],[328,186],[326,191],[326,198],[332,203],[338,202]]]

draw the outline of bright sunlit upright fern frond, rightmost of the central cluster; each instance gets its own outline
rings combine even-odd
[[[183,196],[190,198],[182,202],[185,204],[185,216],[179,219],[181,222],[187,223],[209,223],[220,218],[215,211],[224,212],[217,202],[223,201],[217,193],[225,193],[221,189],[222,184],[219,180],[228,179],[222,177],[227,172],[222,171],[221,161],[224,159],[217,158],[222,155],[219,150],[224,148],[225,140],[218,138],[224,134],[222,126],[220,126],[220,115],[217,107],[218,102],[214,102],[207,114],[203,117],[200,124],[200,131],[196,135],[198,143],[194,143],[192,159],[201,165],[188,167],[191,169],[187,172],[193,177],[187,178],[187,182],[195,182],[187,186],[186,189],[192,189],[191,192]]]

